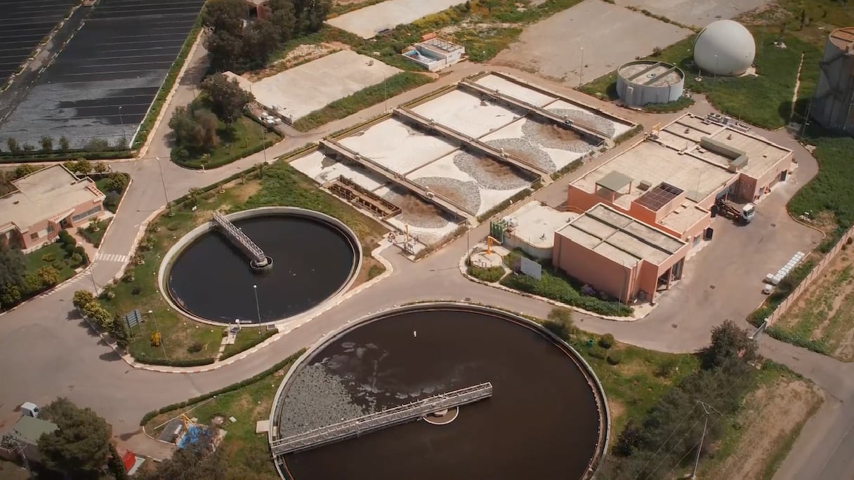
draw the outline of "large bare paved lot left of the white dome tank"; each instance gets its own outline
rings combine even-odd
[[[690,34],[612,3],[585,0],[529,26],[493,62],[577,86]]]

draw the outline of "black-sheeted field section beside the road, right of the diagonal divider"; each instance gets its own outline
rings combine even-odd
[[[100,3],[0,123],[0,140],[65,136],[72,149],[96,139],[131,143],[203,3]]]

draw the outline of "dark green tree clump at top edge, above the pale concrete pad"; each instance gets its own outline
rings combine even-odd
[[[205,46],[217,71],[244,72],[264,67],[273,52],[291,38],[317,32],[329,15],[331,0],[270,0],[270,20],[245,22],[243,0],[212,0],[202,11],[208,29]]]

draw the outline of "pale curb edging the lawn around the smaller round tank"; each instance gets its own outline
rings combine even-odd
[[[159,214],[160,211],[162,211],[162,209],[163,208],[158,210],[158,212],[155,212],[155,214],[152,214],[152,216],[150,216],[149,219],[145,220],[143,225],[148,225],[149,221],[156,214]],[[145,229],[143,228],[143,225],[140,225],[140,231],[142,231],[142,232],[145,231]],[[140,236],[137,235],[137,241],[135,242],[135,244],[139,241],[139,238],[140,238]],[[374,258],[379,260],[379,262],[382,263],[383,266],[385,266],[385,272],[383,272],[382,274],[378,275],[375,278],[371,278],[371,280],[367,281],[366,283],[361,284],[358,287],[354,288],[353,290],[346,292],[342,296],[339,296],[335,301],[330,301],[330,303],[325,305],[324,308],[313,313],[313,315],[311,317],[307,317],[305,319],[298,320],[299,323],[297,323],[296,325],[290,326],[290,328],[283,328],[282,331],[279,331],[276,335],[273,335],[272,337],[266,339],[264,342],[261,342],[260,344],[254,346],[253,348],[249,348],[248,350],[245,350],[239,354],[235,354],[235,355],[229,357],[225,361],[214,362],[213,364],[209,364],[208,366],[203,366],[202,368],[181,367],[181,366],[151,366],[149,364],[139,362],[136,359],[134,359],[130,354],[121,354],[119,351],[119,348],[115,344],[115,342],[112,342],[111,339],[108,340],[108,337],[100,329],[98,329],[95,325],[92,325],[91,321],[89,319],[87,319],[85,317],[85,315],[81,315],[81,316],[83,317],[83,319],[85,319],[86,324],[89,325],[89,327],[93,331],[97,332],[97,334],[101,337],[101,339],[105,343],[107,343],[109,348],[112,348],[113,351],[117,355],[120,356],[121,360],[125,360],[125,363],[128,366],[131,366],[132,368],[135,368],[137,370],[147,370],[149,372],[159,372],[159,373],[202,373],[202,372],[210,372],[210,371],[222,368],[223,366],[229,366],[238,360],[243,360],[246,357],[248,357],[249,355],[258,352],[258,350],[260,350],[261,348],[266,348],[267,346],[271,345],[273,342],[278,341],[278,339],[288,335],[291,331],[295,331],[296,329],[300,328],[302,325],[306,325],[308,322],[312,321],[313,319],[316,319],[317,317],[319,317],[323,313],[326,313],[330,309],[337,307],[343,301],[348,300],[352,296],[359,294],[361,291],[369,289],[373,285],[378,284],[384,278],[389,277],[392,273],[395,272],[395,269],[391,265],[391,262],[389,262],[389,260],[386,260],[385,257],[383,257],[383,255],[380,255],[380,254],[383,252],[383,250],[388,249],[390,245],[391,245],[391,243],[389,243],[387,240],[383,240],[383,242],[380,243],[379,247],[377,247],[376,249],[373,249],[371,251],[371,256],[373,256]],[[118,277],[120,277],[120,274],[118,275]],[[282,325],[282,326],[285,327],[286,325],[289,325],[289,324],[290,324],[290,322],[285,322],[284,325]]]

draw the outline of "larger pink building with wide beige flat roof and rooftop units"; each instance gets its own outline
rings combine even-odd
[[[567,205],[605,203],[698,243],[717,198],[756,202],[786,179],[792,158],[765,138],[685,114],[570,184]]]

